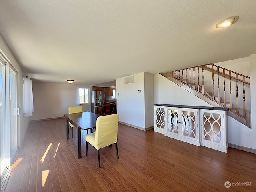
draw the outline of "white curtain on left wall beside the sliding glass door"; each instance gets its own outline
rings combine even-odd
[[[30,76],[24,78],[24,116],[32,116],[34,112],[33,90]]]

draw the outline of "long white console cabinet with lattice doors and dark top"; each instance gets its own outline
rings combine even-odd
[[[157,104],[154,110],[155,132],[227,152],[227,108]]]

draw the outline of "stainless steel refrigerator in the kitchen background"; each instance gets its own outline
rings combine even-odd
[[[96,114],[104,114],[106,108],[105,91],[91,92],[91,112]]]

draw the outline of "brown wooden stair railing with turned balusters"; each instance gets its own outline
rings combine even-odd
[[[209,73],[207,78],[204,77],[204,75],[206,75],[205,71],[208,71],[212,74],[211,80],[209,78]],[[182,82],[186,86],[189,86],[190,88],[193,88],[194,90],[197,90],[198,92],[210,97],[212,100],[215,100],[222,106],[228,107],[229,110],[231,110],[232,112],[235,112],[239,116],[246,118],[246,102],[247,101],[246,101],[246,95],[245,95],[246,94],[245,88],[246,87],[250,88],[250,77],[228,70],[226,68],[222,68],[214,64],[205,64],[205,65],[195,66],[191,68],[184,68],[184,69],[175,70],[172,72],[162,73],[162,75],[165,76],[166,78],[170,78],[170,77],[175,78],[176,80]],[[221,82],[222,82],[221,79],[223,79],[222,85],[221,85]],[[215,82],[214,82],[215,80],[217,80],[216,95],[215,95],[216,90],[215,90]],[[227,80],[229,81],[229,97],[226,97],[226,94],[228,95],[228,93],[226,93]],[[210,81],[212,81],[212,83],[210,83]],[[222,86],[223,90],[221,90],[220,85]],[[209,91],[205,90],[206,87],[207,88],[212,87],[211,95],[208,93]],[[223,96],[223,102],[221,102],[222,96]],[[241,99],[241,96],[242,96],[242,99]],[[226,101],[226,99],[228,98],[229,98],[229,101]],[[236,103],[234,108],[232,105],[232,98],[233,98],[233,102]],[[234,98],[236,98],[235,101],[234,101]],[[242,110],[242,114],[239,113],[240,110]]]

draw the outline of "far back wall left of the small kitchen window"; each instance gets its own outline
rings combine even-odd
[[[64,117],[68,107],[77,105],[76,84],[32,82],[32,86],[34,112],[30,120]],[[84,111],[91,111],[90,104],[82,106]]]

